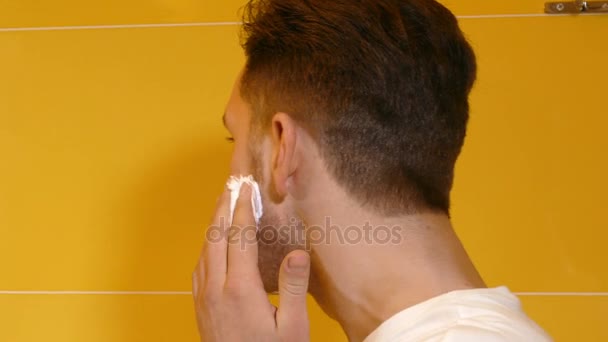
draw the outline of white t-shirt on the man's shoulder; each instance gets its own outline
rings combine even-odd
[[[380,324],[364,342],[552,341],[501,286],[458,290],[409,307]]]

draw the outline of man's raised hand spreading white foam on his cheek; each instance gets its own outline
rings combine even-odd
[[[201,341],[308,342],[308,253],[296,250],[283,260],[279,273],[280,305],[276,308],[268,301],[258,269],[251,187],[241,187],[231,227],[227,227],[229,201],[230,194],[225,190],[211,226],[219,230],[221,238],[206,241],[193,274],[192,292]]]

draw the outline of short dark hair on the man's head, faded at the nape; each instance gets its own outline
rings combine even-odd
[[[433,0],[252,0],[241,94],[252,124],[286,112],[330,174],[387,215],[449,215],[475,54]]]

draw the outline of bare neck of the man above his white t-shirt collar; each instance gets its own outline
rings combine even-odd
[[[332,216],[342,241],[332,236],[331,243],[315,243],[311,250],[310,293],[350,341],[362,341],[392,315],[430,298],[485,287],[446,215],[365,215]],[[307,221],[327,223],[322,217]],[[352,227],[359,227],[360,238]]]

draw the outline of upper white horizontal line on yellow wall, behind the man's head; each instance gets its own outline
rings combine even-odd
[[[606,15],[605,13],[583,13],[582,16]],[[500,18],[537,18],[537,17],[564,17],[572,14],[481,14],[481,15],[459,15],[459,19],[500,19]],[[174,24],[130,24],[130,25],[91,25],[91,26],[40,26],[40,27],[6,27],[0,28],[0,32],[23,32],[23,31],[76,31],[76,30],[114,30],[129,28],[163,28],[163,27],[202,27],[202,26],[236,26],[237,21],[225,22],[200,22],[200,23],[174,23]]]

